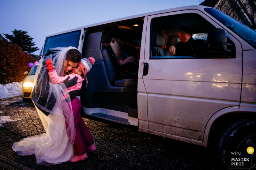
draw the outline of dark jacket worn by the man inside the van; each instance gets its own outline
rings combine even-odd
[[[187,43],[178,42],[175,48],[175,56],[191,56],[195,58],[204,58],[206,56],[206,44],[204,41],[194,40],[192,37]]]

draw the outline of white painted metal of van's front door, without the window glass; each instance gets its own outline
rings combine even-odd
[[[242,48],[233,32],[226,32],[236,46],[236,58],[150,59],[151,19],[185,13],[197,13],[214,27],[222,28],[218,21],[198,10],[148,17],[144,59],[148,74],[143,76],[148,124],[149,130],[202,141],[207,122],[215,112],[240,104]]]

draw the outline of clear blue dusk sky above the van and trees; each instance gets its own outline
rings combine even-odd
[[[27,31],[34,47],[42,48],[45,36],[102,21],[188,5],[199,0],[3,0],[0,33]],[[39,55],[41,50],[34,52]]]

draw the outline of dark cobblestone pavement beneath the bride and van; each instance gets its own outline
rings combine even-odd
[[[23,103],[22,96],[0,99],[0,119],[8,118],[3,116],[10,116],[14,121],[0,125],[0,169],[222,169],[217,156],[205,147],[87,118],[83,119],[97,147],[94,153],[89,154],[89,158],[76,163],[38,166],[34,155],[22,157],[12,150],[14,142],[45,133],[35,107],[32,104]],[[23,167],[15,166],[15,163]]]

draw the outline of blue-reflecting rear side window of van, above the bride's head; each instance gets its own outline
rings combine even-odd
[[[81,34],[81,30],[78,30],[78,31],[73,31],[73,32],[63,33],[60,35],[47,37],[45,40],[43,56],[45,55],[45,52],[50,48],[70,47],[70,46],[78,48],[80,34]]]

